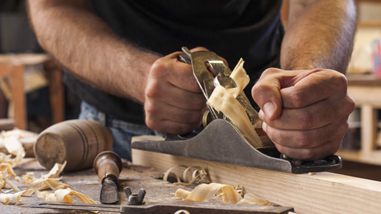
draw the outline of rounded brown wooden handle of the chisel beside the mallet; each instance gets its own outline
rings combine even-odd
[[[117,153],[111,151],[99,153],[94,159],[93,166],[101,183],[110,177],[115,184],[118,184],[119,173],[122,171],[122,160]]]

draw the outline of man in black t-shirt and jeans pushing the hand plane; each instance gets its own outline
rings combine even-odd
[[[280,152],[322,158],[339,149],[354,109],[343,75],[355,31],[354,2],[290,0],[285,33],[281,5],[29,0],[29,13],[43,48],[71,71],[66,84],[85,101],[82,118],[109,126],[122,157],[131,158],[133,135],[152,129],[181,134],[201,124],[205,99],[191,66],[177,57],[181,46],[202,46],[191,51],[215,51],[231,65],[239,57],[246,61],[251,84],[245,92]]]

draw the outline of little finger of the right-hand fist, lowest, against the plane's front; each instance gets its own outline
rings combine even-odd
[[[275,147],[277,147],[280,153],[283,153],[290,158],[298,160],[317,160],[336,153],[340,148],[342,139],[343,137],[336,138],[314,148],[295,149],[280,144],[275,144]]]

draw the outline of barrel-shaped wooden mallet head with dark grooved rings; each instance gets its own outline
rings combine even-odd
[[[74,171],[93,166],[96,155],[111,150],[112,143],[106,126],[89,120],[67,120],[40,133],[34,153],[47,169],[66,160],[65,171]]]

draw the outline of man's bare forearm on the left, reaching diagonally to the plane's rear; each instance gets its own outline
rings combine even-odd
[[[92,85],[143,103],[146,76],[158,56],[118,38],[87,10],[85,2],[29,0],[38,41],[61,64]]]

